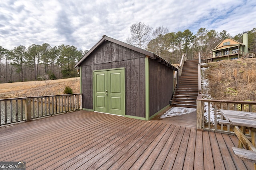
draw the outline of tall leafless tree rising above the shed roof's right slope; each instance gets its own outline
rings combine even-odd
[[[150,40],[150,32],[152,27],[146,26],[142,22],[132,24],[130,27],[131,38],[127,38],[126,42],[132,45],[136,45],[140,48],[145,48],[147,42]]]

